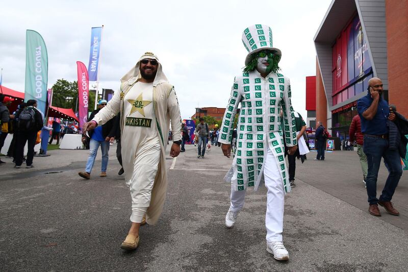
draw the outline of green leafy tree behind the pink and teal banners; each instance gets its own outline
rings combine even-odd
[[[59,79],[53,85],[53,102],[52,106],[75,109],[78,100],[78,83],[77,81],[69,82],[65,79]]]

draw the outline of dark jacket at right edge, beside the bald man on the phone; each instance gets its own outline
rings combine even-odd
[[[390,150],[398,150],[399,156],[405,159],[406,144],[408,139],[405,137],[408,134],[408,120],[398,112],[395,121],[389,122],[388,148]]]

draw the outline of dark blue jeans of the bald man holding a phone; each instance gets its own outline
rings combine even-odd
[[[402,175],[401,159],[397,150],[388,148],[388,140],[364,135],[363,151],[367,155],[368,172],[366,178],[368,202],[377,204],[377,177],[381,164],[381,157],[384,158],[389,168],[389,174],[380,201],[391,201]]]

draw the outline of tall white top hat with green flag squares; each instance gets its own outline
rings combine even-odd
[[[270,50],[272,53],[282,56],[281,50],[272,45],[272,30],[266,24],[254,24],[242,33],[242,42],[248,55],[245,58],[245,65],[248,65],[251,55],[262,50]]]

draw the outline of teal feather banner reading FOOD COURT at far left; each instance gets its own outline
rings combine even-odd
[[[24,101],[34,99],[37,109],[44,116],[47,101],[48,54],[41,35],[27,30],[25,44]]]

